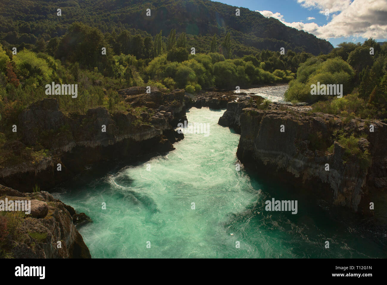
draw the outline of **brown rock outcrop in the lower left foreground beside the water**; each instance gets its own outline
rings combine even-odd
[[[69,206],[45,191],[21,193],[0,185],[0,200],[5,198],[31,200],[31,215],[5,212],[1,216],[0,257],[91,258],[67,210]]]

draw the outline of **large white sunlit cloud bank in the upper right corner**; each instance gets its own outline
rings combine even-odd
[[[286,26],[312,33],[323,39],[356,37],[387,38],[387,0],[297,0],[302,7],[329,9],[330,21],[324,25],[286,22],[283,15],[271,11],[257,11],[265,17],[274,17]],[[335,13],[335,14],[332,14]],[[308,20],[314,19],[308,17]]]

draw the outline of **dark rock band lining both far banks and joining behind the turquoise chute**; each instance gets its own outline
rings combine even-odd
[[[0,183],[24,192],[31,192],[35,185],[49,191],[96,163],[116,159],[130,163],[142,155],[173,150],[173,143],[184,137],[174,129],[187,120],[186,110],[208,106],[227,108],[219,124],[241,134],[237,155],[253,171],[313,189],[330,204],[360,213],[372,213],[370,192],[387,189],[383,147],[387,126],[383,122],[311,113],[310,106],[290,103],[265,105],[260,96],[233,91],[191,95],[184,90],[151,88],[148,94],[145,87],[132,87],[118,94],[131,110],[110,114],[99,107],[85,115],[63,114],[52,98],[29,106],[19,115],[21,139],[4,147],[17,155],[26,146],[39,144],[50,154],[0,168]],[[101,130],[103,125],[106,132]],[[351,134],[356,145],[343,139]]]

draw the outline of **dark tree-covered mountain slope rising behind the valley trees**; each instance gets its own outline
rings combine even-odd
[[[207,0],[3,0],[0,7],[0,39],[12,44],[35,44],[41,37],[63,36],[76,21],[98,28],[102,33],[168,36],[187,33],[194,38],[198,52],[211,44],[212,35],[231,33],[232,55],[243,56],[250,48],[279,50],[284,47],[295,52],[314,55],[329,53],[333,46],[314,35],[287,27],[277,19],[266,18],[259,12],[232,7]],[[62,15],[57,15],[57,9]],[[240,16],[235,9],[240,9]],[[151,9],[151,15],[146,15]],[[140,31],[139,31],[140,30]],[[4,43],[3,43],[4,44]],[[220,46],[217,47],[219,52]]]

